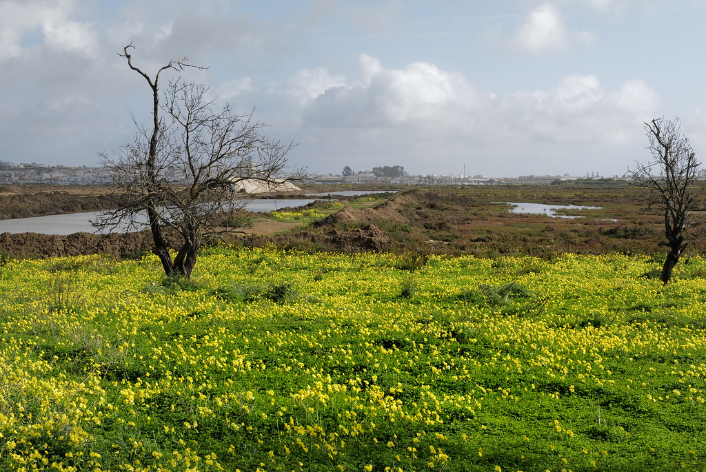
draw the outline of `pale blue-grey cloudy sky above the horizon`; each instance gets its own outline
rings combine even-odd
[[[706,161],[703,0],[0,0],[0,160],[93,166],[173,59],[340,174],[623,176],[645,121]],[[176,79],[176,71],[164,78]]]

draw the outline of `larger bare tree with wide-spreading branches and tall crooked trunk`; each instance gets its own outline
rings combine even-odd
[[[102,212],[94,224],[110,231],[138,229],[146,213],[152,253],[165,274],[189,278],[204,238],[237,226],[244,203],[238,184],[256,181],[280,188],[285,181],[275,174],[287,166],[293,144],[266,138],[265,124],[253,121],[252,113],[236,114],[229,104],[215,109],[201,85],[172,81],[160,104],[160,74],[193,66],[186,58],[170,61],[150,78],[133,66],[132,48],[129,44],[119,55],[152,89],[152,127],[138,125],[134,142],[112,156],[102,155],[119,189],[118,207]],[[164,231],[181,238],[174,259]]]

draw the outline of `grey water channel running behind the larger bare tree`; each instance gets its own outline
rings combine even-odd
[[[394,190],[391,190],[394,191]],[[329,192],[329,193],[312,193],[307,194],[311,197],[342,195],[342,196],[357,196],[368,195],[370,193],[386,193],[387,190],[373,191],[345,191],[345,192]],[[308,205],[315,202],[316,198],[304,199],[256,199],[248,200],[245,204],[245,209],[250,212],[271,212],[273,210],[281,210],[282,208],[296,208]],[[97,219],[100,212],[85,212],[85,213],[69,213],[69,214],[51,214],[46,217],[18,218],[18,219],[2,219],[0,220],[0,234],[2,233],[38,233],[38,234],[58,234],[66,235],[78,232],[97,233],[97,230],[90,224],[91,220]],[[145,217],[143,223],[146,226],[147,219]]]

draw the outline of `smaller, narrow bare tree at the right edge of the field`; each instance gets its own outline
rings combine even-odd
[[[664,261],[663,284],[671,279],[671,272],[679,262],[687,243],[686,231],[694,226],[690,218],[693,195],[690,187],[696,181],[700,163],[689,144],[689,139],[681,133],[679,119],[653,119],[645,123],[645,131],[652,153],[652,161],[638,165],[630,171],[633,178],[650,190],[650,205],[664,208],[664,236],[669,254]]]

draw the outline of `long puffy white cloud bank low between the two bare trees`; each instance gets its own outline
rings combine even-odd
[[[537,143],[614,146],[639,139],[642,121],[659,104],[640,80],[606,91],[597,76],[575,74],[550,90],[494,95],[431,63],[393,69],[361,56],[359,64],[362,80],[330,87],[309,102],[304,133],[325,128],[314,134],[337,136],[368,152],[396,143],[429,158],[439,150],[464,155]]]

